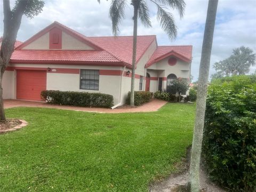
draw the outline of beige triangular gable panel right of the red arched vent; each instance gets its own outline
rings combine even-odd
[[[62,49],[66,50],[93,50],[92,47],[77,40],[62,31]]]

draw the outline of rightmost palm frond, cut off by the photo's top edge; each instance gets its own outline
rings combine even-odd
[[[156,4],[161,4],[164,6],[170,6],[172,9],[175,9],[179,12],[180,18],[183,17],[186,3],[184,0],[154,0]]]

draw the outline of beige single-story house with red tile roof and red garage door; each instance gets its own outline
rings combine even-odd
[[[42,90],[111,94],[125,103],[131,89],[132,36],[87,37],[53,22],[15,45],[3,76],[4,99],[40,101]],[[173,78],[189,80],[192,46],[158,46],[138,36],[135,91],[168,90]]]

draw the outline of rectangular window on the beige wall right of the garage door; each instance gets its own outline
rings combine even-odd
[[[80,70],[80,89],[99,90],[99,70]]]

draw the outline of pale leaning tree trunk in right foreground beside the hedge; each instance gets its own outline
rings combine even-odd
[[[218,0],[209,0],[204,29],[201,62],[199,67],[196,120],[190,159],[190,186],[192,192],[199,192],[199,168],[202,150],[204,116],[207,94],[207,82],[212,50],[213,32],[217,13]]]

